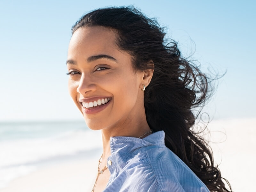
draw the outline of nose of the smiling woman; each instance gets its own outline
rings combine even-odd
[[[82,74],[79,85],[76,89],[81,95],[93,92],[96,90],[96,84],[92,81],[92,78],[88,75]]]

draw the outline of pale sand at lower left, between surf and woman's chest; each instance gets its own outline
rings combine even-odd
[[[97,159],[52,165],[9,183],[1,192],[90,191],[97,175]]]

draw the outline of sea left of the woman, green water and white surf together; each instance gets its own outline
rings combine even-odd
[[[40,167],[99,154],[100,139],[84,122],[0,123],[0,188]]]

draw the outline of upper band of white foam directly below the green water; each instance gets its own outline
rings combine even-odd
[[[0,142],[0,168],[100,148],[100,139],[100,132],[79,130],[49,138],[3,141]]]

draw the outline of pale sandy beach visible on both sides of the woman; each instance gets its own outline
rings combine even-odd
[[[256,119],[213,121],[211,131],[215,163],[234,191],[251,191],[256,168]],[[208,135],[209,136],[209,135]],[[207,137],[207,135],[206,135]],[[99,154],[100,156],[100,154]],[[11,181],[0,192],[91,191],[98,157],[53,164]]]

